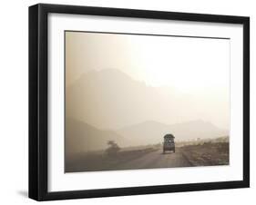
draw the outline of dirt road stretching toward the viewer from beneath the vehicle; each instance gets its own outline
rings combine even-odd
[[[170,167],[189,167],[190,162],[184,155],[177,149],[175,153],[159,151],[152,151],[145,154],[138,159],[127,161],[126,163],[118,164],[116,170],[137,170],[148,168],[170,168]]]

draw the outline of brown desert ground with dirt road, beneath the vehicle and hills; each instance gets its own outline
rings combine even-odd
[[[165,154],[159,143],[120,149],[112,155],[106,151],[77,153],[66,159],[66,172],[229,165],[229,142],[227,138],[177,142],[176,151]]]

